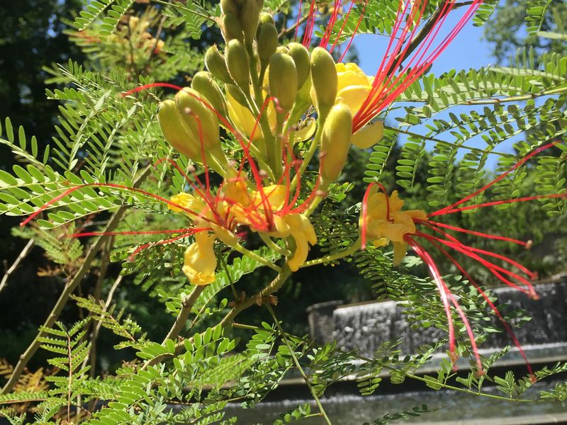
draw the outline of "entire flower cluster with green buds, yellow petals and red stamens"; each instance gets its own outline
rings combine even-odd
[[[481,3],[481,0],[468,2],[459,22],[448,35],[437,41],[435,38],[439,28],[455,2],[442,2],[439,10],[427,21],[429,31],[425,37],[418,37],[427,10],[427,0],[400,0],[386,52],[376,75],[369,77],[356,64],[342,63],[342,57],[336,63],[331,55],[337,47],[336,40],[339,40],[345,23],[354,11],[354,0],[348,8],[341,1],[335,1],[320,44],[313,49],[311,40],[317,14],[315,0],[310,3],[303,42],[289,42],[286,45],[279,44],[274,18],[262,12],[262,0],[221,0],[220,28],[225,47],[222,52],[216,45],[207,50],[204,57],[207,71],[194,75],[190,87],[150,84],[125,94],[131,95],[156,86],[176,90],[172,99],[160,104],[158,120],[167,142],[194,164],[191,166],[191,175],[184,174],[178,168],[186,178],[187,191],[177,193],[168,200],[137,188],[92,183],[70,188],[40,208],[26,222],[80,187],[130,190],[159,200],[173,212],[185,215],[191,222],[186,229],[172,231],[179,233],[179,236],[159,243],[194,236],[194,242],[185,251],[183,267],[193,285],[208,285],[215,281],[215,244],[219,241],[243,255],[255,255],[242,245],[239,234],[241,227],[259,234],[267,246],[285,257],[279,266],[264,262],[266,266],[279,272],[283,268],[296,271],[305,265],[310,246],[318,240],[310,215],[327,196],[330,185],[339,179],[351,145],[366,149],[380,142],[383,121],[376,119],[378,114],[426,72]],[[300,12],[301,6],[300,2]],[[361,3],[361,7],[357,27],[364,16],[366,1]],[[298,13],[299,16],[301,13]],[[342,27],[335,28],[341,17],[344,20]],[[145,31],[145,28],[137,28],[137,22],[132,19],[129,25],[130,30]],[[296,28],[300,28],[299,21]],[[331,45],[333,38],[335,42]],[[352,39],[347,44],[350,45],[350,42]],[[228,151],[221,142],[221,136],[231,137],[240,149],[236,153]],[[297,149],[298,142],[304,142],[305,149]],[[541,149],[529,154],[507,173]],[[315,181],[310,181],[305,177],[305,171],[316,152],[319,153],[318,175]],[[176,166],[174,162],[171,164]],[[202,174],[196,172],[196,167],[201,169]],[[216,186],[210,183],[210,173],[213,171],[222,178],[222,182]],[[451,306],[463,320],[476,353],[474,334],[432,255],[417,240],[424,239],[450,259],[476,285],[498,317],[501,316],[496,307],[454,256],[449,254],[449,250],[478,261],[503,283],[535,296],[530,284],[534,274],[527,268],[505,256],[463,244],[447,231],[517,244],[524,242],[433,220],[437,216],[471,208],[537,198],[462,206],[507,173],[459,202],[430,214],[422,210],[403,210],[403,200],[400,200],[398,193],[394,191],[388,196],[379,183],[369,186],[362,202],[359,225],[363,249],[366,239],[376,247],[392,243],[393,263],[397,265],[408,247],[411,247],[429,267],[447,313],[451,352],[454,352]],[[79,235],[93,234],[96,232]],[[137,251],[147,246],[150,244],[141,246]],[[500,266],[493,259],[503,261],[505,265]],[[516,268],[517,271],[510,271],[509,268]],[[507,327],[507,330],[517,343],[511,329]],[[478,353],[476,356],[481,370]]]

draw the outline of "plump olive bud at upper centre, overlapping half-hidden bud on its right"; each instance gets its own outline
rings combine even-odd
[[[290,55],[271,55],[269,81],[271,96],[278,99],[283,111],[290,111],[297,94],[297,69]]]

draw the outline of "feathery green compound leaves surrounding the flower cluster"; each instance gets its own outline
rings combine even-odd
[[[183,257],[187,246],[195,240],[190,230],[198,220],[172,213],[166,200],[177,193],[205,190],[196,183],[196,176],[203,171],[197,171],[191,160],[176,154],[159,129],[159,101],[167,98],[169,92],[156,87],[135,93],[130,90],[155,81],[181,84],[179,81],[201,69],[202,54],[191,49],[189,42],[199,45],[204,40],[203,45],[207,45],[208,26],[220,18],[220,8],[200,0],[159,1],[157,7],[142,11],[144,6],[135,3],[142,2],[90,1],[72,22],[74,31],[69,31],[69,35],[89,55],[89,62],[69,60],[67,64],[45,68],[51,76],[50,83],[57,84],[57,88],[47,90],[47,97],[60,105],[50,145],[40,145],[35,137],[26,135],[23,127],[15,128],[9,118],[0,124],[0,143],[11,149],[18,162],[11,169],[0,170],[0,212],[23,216],[45,207],[37,227],[15,230],[14,234],[33,238],[47,259],[59,266],[57,273],[64,276],[66,284],[77,279],[76,288],[84,292],[72,299],[81,314],[86,314],[85,319],[70,327],[55,322],[53,327],[40,328],[35,341],[50,353],[48,364],[54,368],[41,380],[49,390],[40,387],[37,391],[8,391],[0,395],[0,404],[18,404],[23,409],[33,405],[37,409],[36,423],[61,422],[66,416],[67,422],[73,419],[93,425],[232,424],[237,419],[227,415],[228,402],[240,402],[242,408],[254,407],[291,370],[300,373],[316,402],[331,385],[350,379],[356,379],[362,396],[376,394],[385,377],[394,385],[412,379],[434,390],[451,389],[475,395],[485,394],[486,382],[494,382],[502,395],[492,397],[523,397],[532,385],[531,377],[517,379],[511,372],[503,377],[492,373],[494,363],[505,355],[507,348],[481,358],[484,375],[471,371],[466,377],[456,376],[453,354],[441,358],[436,373],[421,375],[421,369],[430,365],[433,354],[447,341],[432,341],[407,356],[402,356],[399,341],[389,341],[366,358],[357,351],[345,351],[336,342],[317,346],[305,336],[283,331],[286,324],[276,317],[277,309],[272,307],[278,302],[274,294],[279,289],[279,296],[295,291],[291,301],[286,300],[293,302],[302,296],[302,278],[293,280],[295,287],[286,288],[290,292],[285,293],[281,288],[283,281],[278,281],[283,272],[274,279],[274,270],[261,268],[268,263],[276,271],[282,266],[285,270],[290,249],[297,247],[295,236],[275,236],[278,229],[262,234],[263,242],[269,237],[275,237],[277,242],[269,239],[266,246],[258,247],[258,232],[251,223],[242,225],[247,237],[239,234],[239,245],[220,237],[222,230],[213,224],[203,224],[210,225],[206,231],[218,237],[213,246],[218,262],[215,281],[204,288],[189,285],[182,271]],[[441,3],[430,1],[425,16],[434,13]],[[329,4],[321,5],[325,16],[330,12]],[[476,13],[476,25],[487,22],[496,5],[496,1],[485,1]],[[531,0],[529,5],[530,31],[545,29],[549,1]],[[289,2],[279,0],[266,1],[266,7],[276,14],[276,21],[291,11]],[[395,0],[368,2],[359,32],[388,35],[398,7]],[[342,15],[331,42],[343,42],[352,36],[362,8],[364,3],[354,4],[348,17]],[[133,23],[146,26],[147,31],[140,38],[154,40],[149,51],[133,38]],[[342,27],[339,35],[338,28]],[[282,29],[287,35],[292,31],[291,27]],[[322,35],[322,30],[316,34]],[[550,34],[544,33],[554,40],[558,38]],[[163,46],[157,49],[160,41]],[[491,156],[498,158],[496,171],[503,172],[534,147],[564,139],[566,75],[567,58],[561,52],[539,55],[531,49],[518,52],[508,67],[426,75],[386,111],[403,112],[397,118],[399,127],[386,127],[381,143],[367,155],[360,154],[367,161],[355,171],[364,172],[366,183],[384,182],[395,175],[398,188],[408,195],[407,202],[419,208],[425,208],[426,203],[431,207],[449,205],[485,185],[491,174],[486,167]],[[256,97],[262,98],[262,94]],[[466,107],[466,113],[456,112],[456,107]],[[223,149],[233,159],[242,159],[243,149],[225,130],[220,136]],[[397,138],[401,134],[408,136],[408,142],[398,149]],[[519,135],[524,140],[518,142]],[[305,157],[308,142],[293,147],[294,153]],[[430,142],[432,149],[428,149]],[[516,152],[502,152],[510,142],[515,142]],[[483,197],[507,200],[534,193],[566,193],[566,152],[564,145],[558,145],[498,181],[473,202]],[[305,200],[316,189],[318,164],[311,165],[313,169],[300,176],[299,200]],[[206,191],[220,191],[219,175],[211,172],[207,177],[214,189],[207,186]],[[311,253],[318,258],[303,266],[320,263],[339,268],[344,266],[340,259],[352,262],[361,280],[372,285],[378,300],[388,297],[398,302],[413,328],[437,327],[447,331],[437,285],[430,278],[421,277],[420,259],[406,256],[402,266],[393,268],[388,248],[369,247],[354,252],[359,247],[361,197],[357,193],[359,182],[351,180],[347,174],[344,181],[325,188],[325,201],[310,216],[318,237]],[[319,195],[316,191],[314,194]],[[218,200],[225,202],[222,197]],[[541,210],[556,220],[556,225],[560,223],[566,200],[540,202]],[[492,220],[493,227],[513,215],[513,207],[508,205],[495,211],[498,215],[486,219]],[[198,219],[210,221],[206,212]],[[459,220],[478,221],[478,216],[464,213]],[[96,237],[93,246],[98,245],[92,254],[86,254],[91,251],[84,249],[85,245],[73,235],[91,231],[91,236]],[[349,249],[350,254],[343,256]],[[206,260],[204,255],[201,260]],[[93,268],[94,273],[85,277],[88,268]],[[493,301],[494,297],[488,290],[478,293],[472,282],[455,274],[454,267],[447,271],[452,273],[443,278],[459,296],[459,305],[480,343],[497,331],[490,324],[486,300],[488,297]],[[304,279],[309,284],[318,278],[315,273],[301,273],[305,271],[294,276],[307,276]],[[140,305],[130,300],[133,293],[143,297]],[[108,294],[106,300],[103,294]],[[61,305],[64,301],[60,299]],[[154,336],[152,324],[140,320],[140,310],[149,302],[159,306],[147,314],[156,322],[165,317],[169,323],[175,317],[165,338]],[[235,322],[235,314],[245,308],[253,307],[259,315],[265,313],[262,307],[266,305],[272,314],[271,322],[259,319],[258,327]],[[62,310],[55,309],[53,317]],[[505,319],[515,319],[515,323],[525,320],[522,312],[510,311],[506,306],[500,311]],[[455,355],[473,358],[471,341],[455,309],[451,310],[451,319],[457,325]],[[89,373],[96,375],[90,368],[97,364],[96,343],[101,328],[103,338],[111,339],[116,350],[122,349],[118,356],[123,363],[108,366],[104,378],[94,378]],[[239,344],[241,338],[244,342]],[[109,363],[108,358],[105,360]],[[563,373],[566,368],[565,364],[558,364],[534,375],[542,380]],[[539,394],[540,399],[563,401],[566,397],[563,384]],[[99,400],[103,407],[96,410]],[[71,417],[72,406],[87,403],[91,406],[85,409],[93,412],[92,416],[81,416],[81,409],[77,409],[75,417]],[[170,409],[172,404],[180,408]],[[318,409],[321,411],[312,412],[309,403],[301,404],[282,413],[274,423],[286,424],[324,414],[321,407]],[[373,423],[387,424],[427,412],[432,410],[422,405],[386,414]],[[24,420],[17,411],[3,410],[1,414],[14,424]]]

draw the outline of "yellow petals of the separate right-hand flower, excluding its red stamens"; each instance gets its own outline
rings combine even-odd
[[[398,191],[393,191],[388,198],[385,193],[378,192],[376,186],[371,188],[371,193],[366,205],[366,223],[360,217],[361,228],[366,225],[366,235],[374,246],[386,246],[392,242],[394,247],[394,266],[397,266],[408,248],[404,241],[406,234],[415,233],[414,218],[425,220],[427,214],[422,210],[403,211],[403,200],[398,198]],[[389,211],[388,211],[389,210]],[[388,215],[389,212],[389,215]]]

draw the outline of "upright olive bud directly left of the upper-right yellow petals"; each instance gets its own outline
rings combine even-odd
[[[311,54],[311,80],[313,104],[320,115],[326,115],[335,104],[338,79],[335,60],[322,47],[315,47]]]

